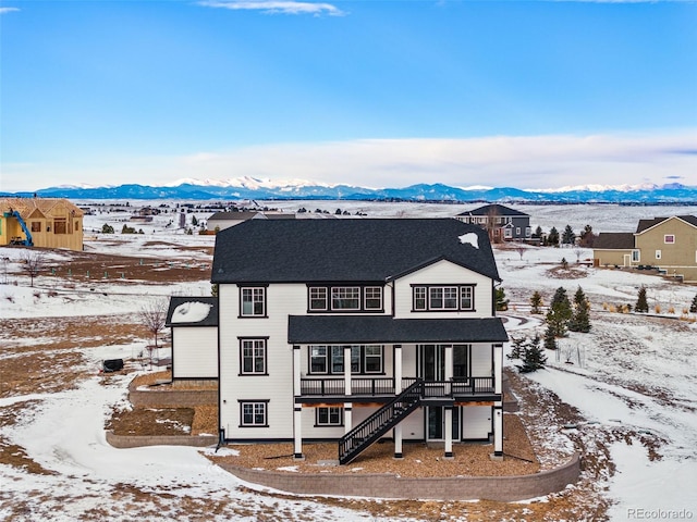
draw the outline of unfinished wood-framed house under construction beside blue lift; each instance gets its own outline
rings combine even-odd
[[[66,199],[0,198],[0,246],[82,250],[83,216]]]

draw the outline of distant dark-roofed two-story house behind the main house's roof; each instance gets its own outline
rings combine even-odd
[[[463,223],[480,226],[489,232],[492,243],[530,239],[530,216],[503,204],[486,204],[455,216]]]

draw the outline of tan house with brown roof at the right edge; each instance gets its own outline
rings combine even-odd
[[[592,250],[597,266],[652,266],[685,282],[696,282],[697,217],[639,220],[635,233],[600,234]]]

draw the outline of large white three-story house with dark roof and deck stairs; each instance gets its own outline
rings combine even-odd
[[[243,252],[241,254],[240,252]],[[487,233],[453,219],[250,220],[218,234],[224,442],[492,440],[508,340]]]

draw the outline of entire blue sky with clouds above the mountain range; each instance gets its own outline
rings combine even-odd
[[[697,185],[692,1],[0,0],[0,189]]]

